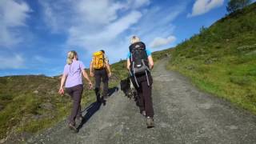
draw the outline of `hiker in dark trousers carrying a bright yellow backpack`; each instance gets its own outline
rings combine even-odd
[[[95,94],[99,103],[106,102],[108,82],[111,75],[109,60],[106,57],[105,51],[95,52],[90,62],[90,76],[95,78]],[[102,98],[100,94],[101,82],[103,82]]]

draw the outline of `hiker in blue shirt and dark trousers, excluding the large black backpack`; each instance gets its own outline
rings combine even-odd
[[[145,46],[143,42],[140,41],[140,39],[136,36],[133,36],[131,38],[131,46]],[[154,67],[154,61],[152,58],[152,54],[150,50],[146,49],[146,57],[148,62],[148,68],[150,70]],[[131,71],[131,54],[127,54],[127,69]],[[138,74],[134,75],[131,73],[131,82],[133,83],[135,89],[138,93],[138,103],[140,108],[140,113],[146,117],[146,126],[148,128],[154,127],[154,109],[153,109],[153,102],[152,102],[152,84],[153,84],[153,78],[151,77],[150,71],[146,72],[145,74]]]

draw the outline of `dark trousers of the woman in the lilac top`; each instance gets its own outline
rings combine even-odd
[[[71,98],[73,99],[73,107],[71,110],[71,114],[69,117],[69,121],[71,124],[75,124],[75,118],[82,116],[81,113],[81,98],[82,98],[82,91],[83,86],[73,86],[66,89],[67,93],[70,94]]]

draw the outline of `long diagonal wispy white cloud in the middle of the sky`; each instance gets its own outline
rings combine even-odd
[[[92,51],[95,47],[108,46],[110,42],[116,41],[115,38],[125,30],[129,29],[131,25],[138,22],[142,14],[138,11],[132,11],[130,14],[119,18],[116,22],[102,27],[97,33],[84,33],[86,27],[72,27],[70,28],[69,44],[71,46],[82,46],[87,50]]]

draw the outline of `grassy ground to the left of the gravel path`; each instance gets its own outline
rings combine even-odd
[[[58,95],[59,82],[58,77],[42,75],[1,77],[0,138],[37,132],[69,114],[70,97]],[[85,91],[83,104],[94,100],[88,97],[92,92]]]

